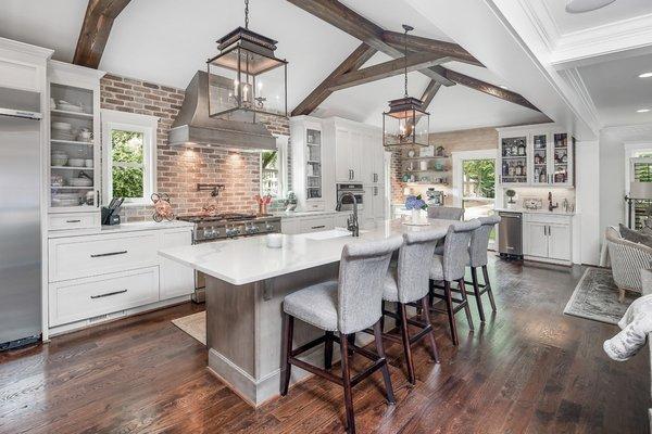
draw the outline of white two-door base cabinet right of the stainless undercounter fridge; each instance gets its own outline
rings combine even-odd
[[[572,217],[525,214],[523,226],[524,255],[532,259],[570,264]]]

